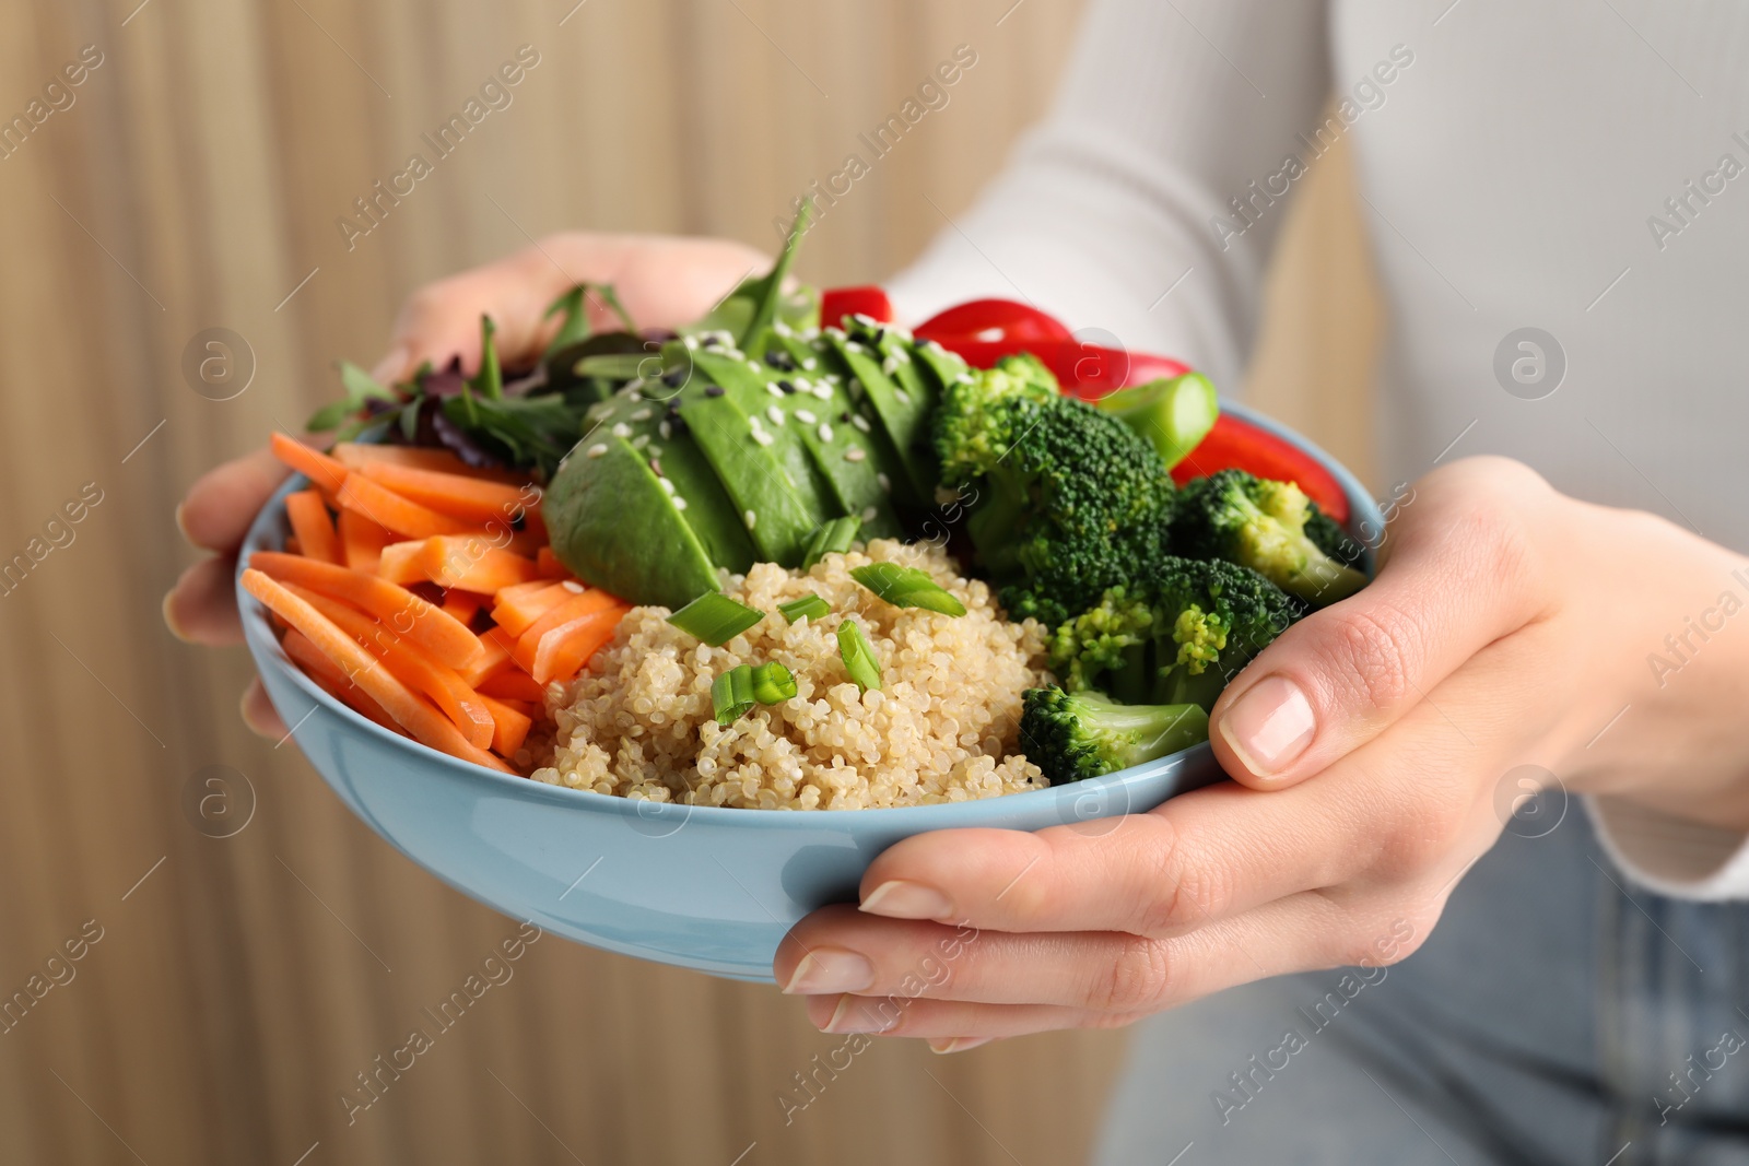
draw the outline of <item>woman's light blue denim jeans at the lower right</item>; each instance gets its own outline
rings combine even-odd
[[[1749,904],[1628,883],[1572,802],[1408,960],[1140,1024],[1095,1161],[1749,1164]]]

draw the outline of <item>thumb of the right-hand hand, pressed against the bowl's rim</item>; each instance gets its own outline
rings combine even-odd
[[[1254,788],[1301,781],[1378,736],[1488,643],[1548,605],[1527,512],[1557,495],[1506,458],[1417,484],[1392,556],[1359,594],[1289,628],[1210,713],[1216,757]]]

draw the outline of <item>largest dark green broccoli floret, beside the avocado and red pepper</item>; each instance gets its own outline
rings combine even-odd
[[[965,533],[1013,619],[1058,624],[1165,554],[1172,475],[1135,430],[1009,357],[936,416],[943,486],[974,502]]]

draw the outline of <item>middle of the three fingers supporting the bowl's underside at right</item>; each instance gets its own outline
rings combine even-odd
[[[1345,963],[1355,930],[1364,927],[1355,928],[1345,907],[1315,893],[1165,939],[974,932],[840,906],[796,925],[778,947],[775,972],[791,995],[1044,1003],[1128,1016],[1266,975]],[[957,951],[946,954],[955,940]]]

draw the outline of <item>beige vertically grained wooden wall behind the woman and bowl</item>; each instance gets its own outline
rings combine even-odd
[[[972,44],[951,105],[810,236],[806,278],[876,280],[939,227],[923,196],[957,213],[1041,110],[1077,5],[135,3],[0,2],[3,117],[80,45],[103,52],[0,161],[0,558],[103,491],[0,598],[0,995],[103,928],[0,1035],[0,1161],[1079,1161],[1119,1035],[883,1044],[785,1128],[775,1093],[840,1040],[796,1002],[558,939],[346,1128],[339,1089],[514,927],[241,727],[241,650],[157,617],[192,561],[185,486],[331,397],[331,362],[371,362],[423,280],[567,226],[770,246],[787,196]],[[334,219],[521,44],[540,65],[514,105],[348,253]],[[1364,472],[1350,418],[1378,311],[1348,184],[1319,166],[1294,210],[1256,399]],[[178,372],[208,325],[254,348],[234,400]],[[180,809],[212,764],[255,790],[236,837]]]

